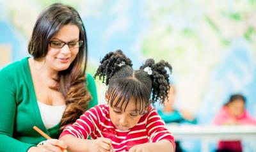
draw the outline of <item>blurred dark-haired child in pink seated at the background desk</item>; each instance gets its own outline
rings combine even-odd
[[[214,118],[215,125],[256,125],[245,109],[246,98],[235,94],[230,96],[227,103]],[[242,151],[241,141],[220,141],[217,151]]]

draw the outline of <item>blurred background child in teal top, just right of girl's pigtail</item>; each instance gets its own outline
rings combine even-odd
[[[164,120],[165,123],[191,123],[195,124],[196,119],[193,114],[186,110],[178,110],[173,107],[175,100],[175,88],[170,86],[168,100],[164,101],[163,109],[157,110],[159,116]],[[179,141],[175,141],[176,152],[182,151]]]

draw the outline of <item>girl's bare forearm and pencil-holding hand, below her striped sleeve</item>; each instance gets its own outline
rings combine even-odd
[[[78,139],[73,135],[63,135],[60,138],[67,144],[67,151],[111,151],[111,140],[100,137],[95,140]]]

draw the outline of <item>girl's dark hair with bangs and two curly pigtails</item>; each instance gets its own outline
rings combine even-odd
[[[170,82],[165,68],[172,72],[169,63],[163,60],[155,63],[154,59],[147,59],[140,70],[133,70],[131,59],[126,57],[122,50],[116,50],[103,57],[94,78],[99,76],[99,79],[108,85],[107,93],[111,99],[111,107],[120,103],[121,107],[125,106],[125,110],[128,101],[133,97],[136,106],[139,103],[136,110],[139,109],[140,114],[143,114],[150,103],[163,103],[164,99],[168,98]],[[117,102],[113,105],[115,99]]]

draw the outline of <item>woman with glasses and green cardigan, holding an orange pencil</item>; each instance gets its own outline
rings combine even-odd
[[[0,148],[61,151],[64,126],[97,104],[95,82],[84,74],[87,40],[79,13],[59,3],[42,11],[28,51],[32,57],[0,70]],[[44,141],[34,125],[53,139]]]

